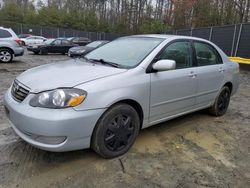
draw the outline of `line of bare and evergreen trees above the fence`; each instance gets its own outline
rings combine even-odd
[[[124,34],[162,33],[244,23],[250,19],[250,0],[2,1],[0,24],[23,23]]]

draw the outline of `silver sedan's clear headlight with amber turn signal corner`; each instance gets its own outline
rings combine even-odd
[[[81,89],[56,89],[37,94],[30,100],[33,107],[67,108],[81,104],[87,92]]]

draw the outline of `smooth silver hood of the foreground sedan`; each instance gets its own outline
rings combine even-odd
[[[83,59],[76,59],[29,69],[20,74],[17,80],[30,88],[32,93],[38,93],[56,88],[74,87],[126,71],[126,69],[93,64]]]

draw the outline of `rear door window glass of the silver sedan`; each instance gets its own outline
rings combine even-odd
[[[194,42],[198,66],[215,65],[222,63],[219,53],[209,44]]]

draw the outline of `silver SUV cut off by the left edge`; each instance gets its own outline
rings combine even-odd
[[[12,29],[0,27],[0,62],[9,63],[14,56],[22,56],[21,40]]]

